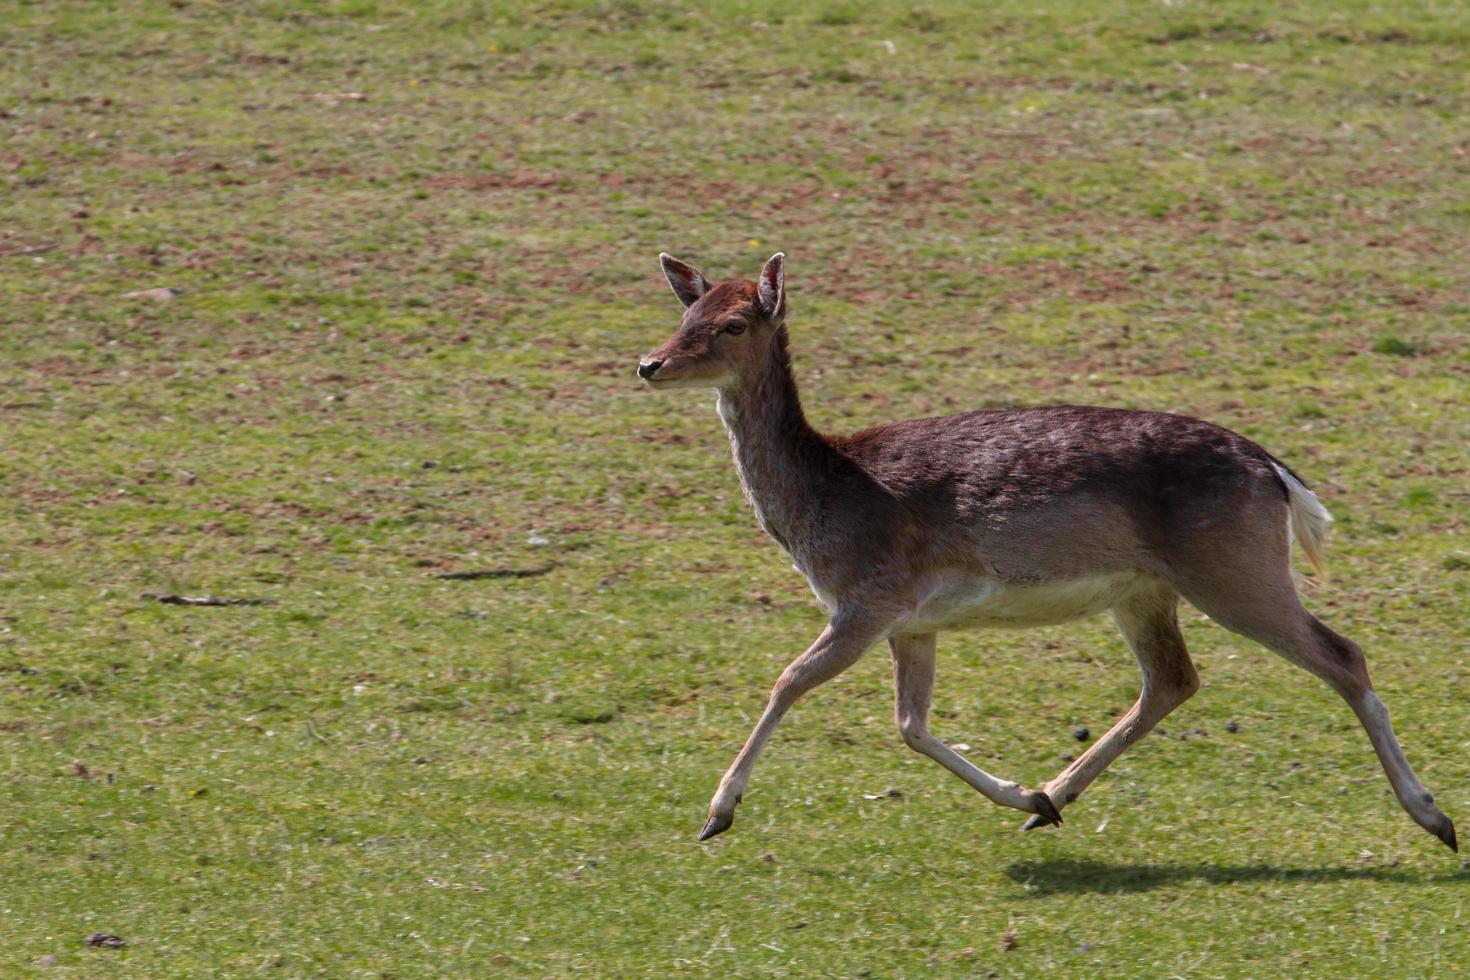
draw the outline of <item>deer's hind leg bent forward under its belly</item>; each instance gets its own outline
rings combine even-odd
[[[1177,604],[1173,589],[1160,585],[1133,594],[1113,610],[1113,620],[1144,671],[1144,689],[1107,735],[1047,783],[1047,795],[1058,807],[1076,801],[1113,760],[1200,689],[1200,676],[1179,633]],[[1042,826],[1045,821],[1032,817],[1022,830]]]

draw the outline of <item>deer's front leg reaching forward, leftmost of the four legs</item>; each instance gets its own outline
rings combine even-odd
[[[801,695],[856,664],[867,648],[888,632],[891,624],[889,619],[839,610],[817,636],[817,641],[781,671],[756,729],[745,739],[744,748],[735,757],[729,771],[725,773],[725,779],[720,780],[714,798],[710,799],[710,818],[700,830],[700,840],[709,840],[714,835],[729,830],[731,824],[735,823],[735,807],[745,792],[751,770],[756,768],[756,757],[760,755],[760,749],[764,748],[770,733],[776,730],[791,705]]]

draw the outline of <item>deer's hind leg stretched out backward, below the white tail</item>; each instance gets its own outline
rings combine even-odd
[[[1255,573],[1260,574],[1258,569]],[[1326,680],[1367,730],[1398,802],[1414,823],[1458,851],[1454,823],[1439,811],[1435,798],[1404,758],[1404,749],[1389,724],[1388,708],[1373,691],[1369,666],[1358,645],[1302,608],[1285,561],[1279,574],[1258,579],[1250,591],[1241,589],[1242,582],[1248,579],[1236,579],[1227,588],[1195,585],[1186,588],[1185,598],[1226,629],[1254,639]]]

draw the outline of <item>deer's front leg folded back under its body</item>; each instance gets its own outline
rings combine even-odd
[[[1033,820],[1042,823],[1061,823],[1061,814],[1057,813],[1047,793],[995,779],[929,732],[935,635],[894,635],[888,639],[888,648],[894,654],[894,717],[898,721],[900,735],[904,736],[904,743],[944,765],[992,804],[1036,814]]]

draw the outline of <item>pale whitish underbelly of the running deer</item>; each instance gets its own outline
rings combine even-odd
[[[904,624],[904,632],[980,626],[1051,626],[1117,604],[1141,573],[1119,572],[1044,585],[1007,585],[983,576],[947,579]]]

